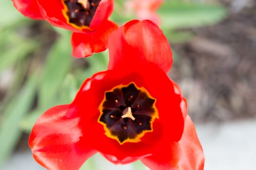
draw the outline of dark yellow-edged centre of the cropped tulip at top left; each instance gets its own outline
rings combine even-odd
[[[62,13],[67,22],[75,28],[88,28],[100,0],[62,0]]]

